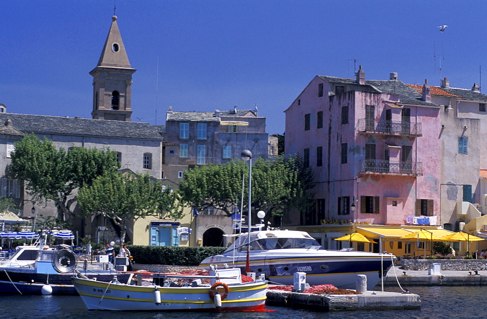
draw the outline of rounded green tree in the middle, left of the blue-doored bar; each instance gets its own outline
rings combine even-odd
[[[80,188],[78,203],[81,215],[102,214],[121,229],[125,241],[126,225],[147,215],[159,218],[182,217],[176,205],[177,195],[171,187],[154,181],[148,174],[119,174],[107,172],[94,179],[91,185]]]

